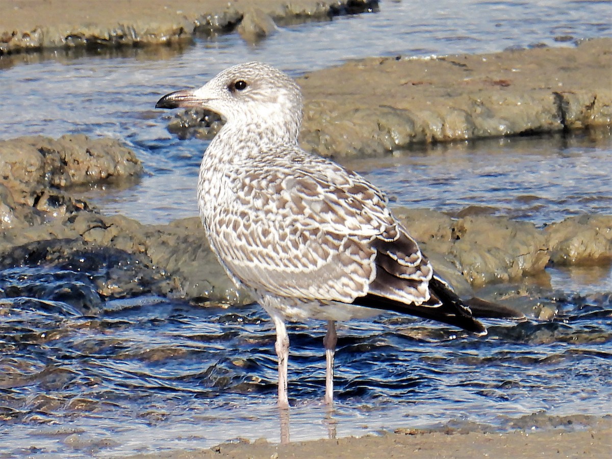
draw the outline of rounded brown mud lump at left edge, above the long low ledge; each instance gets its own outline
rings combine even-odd
[[[75,185],[125,181],[143,166],[133,151],[111,138],[64,135],[0,141],[0,230],[40,224],[82,209],[64,193]]]

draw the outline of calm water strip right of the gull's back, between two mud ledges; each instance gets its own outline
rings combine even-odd
[[[612,213],[611,157],[605,130],[441,144],[345,165],[395,205],[450,214],[482,207],[543,226],[584,212]]]

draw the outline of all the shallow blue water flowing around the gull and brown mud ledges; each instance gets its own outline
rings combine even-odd
[[[381,2],[379,13],[282,28],[258,47],[228,35],[181,51],[11,58],[30,63],[0,70],[0,138],[121,138],[147,176],[126,190],[94,190],[90,199],[105,212],[167,222],[196,214],[188,196],[206,143],[174,138],[167,114],[153,106],[230,64],[261,59],[298,75],[375,54],[497,51],[570,45],[554,41],[568,34],[612,35],[603,20],[608,2],[419,5]],[[349,166],[397,204],[450,212],[490,206],[542,225],[612,212],[611,152],[605,133],[558,135],[414,149]],[[549,272],[554,294],[542,303],[559,315],[494,324],[488,338],[395,315],[341,324],[331,416],[320,403],[324,329],[293,324],[291,439],[397,427],[546,428],[562,416],[580,428],[589,423],[584,415],[612,414],[611,267]],[[237,437],[278,440],[274,329],[256,305],[104,303],[87,275],[40,267],[0,272],[0,288],[7,296],[0,299],[0,457],[122,457]]]

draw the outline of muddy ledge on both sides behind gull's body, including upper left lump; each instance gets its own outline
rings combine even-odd
[[[155,294],[250,302],[217,263],[197,217],[142,225],[122,215],[103,215],[70,193],[76,185],[133,180],[141,172],[135,154],[115,140],[66,135],[1,141],[0,269],[90,269],[102,299]],[[394,211],[436,269],[466,295],[491,283],[541,277],[550,264],[612,260],[612,215],[567,217],[537,228],[479,215],[478,209],[458,217],[427,209]],[[102,261],[92,262],[97,258]],[[540,309],[524,312],[540,315]]]

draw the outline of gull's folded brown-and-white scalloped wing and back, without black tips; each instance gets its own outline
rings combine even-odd
[[[352,303],[370,293],[439,303],[428,290],[429,262],[359,174],[297,148],[234,166],[235,199],[209,228],[234,278],[303,300]],[[398,282],[386,285],[383,272]]]

